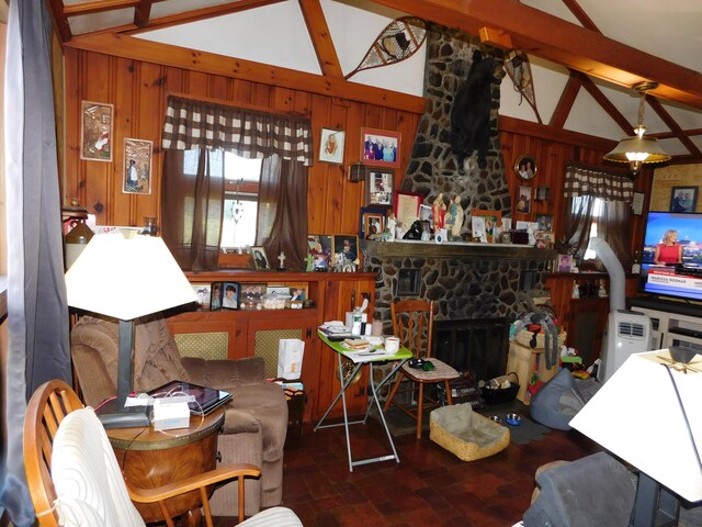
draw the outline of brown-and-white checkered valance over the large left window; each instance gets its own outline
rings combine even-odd
[[[162,147],[224,149],[246,158],[278,154],[314,161],[312,125],[302,115],[280,115],[170,96]]]

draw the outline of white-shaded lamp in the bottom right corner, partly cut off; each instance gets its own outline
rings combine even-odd
[[[677,525],[679,497],[702,500],[702,355],[634,354],[570,426],[639,470],[634,527]]]

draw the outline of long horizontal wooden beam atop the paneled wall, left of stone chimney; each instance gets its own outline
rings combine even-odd
[[[65,47],[101,53],[115,57],[171,66],[224,77],[261,82],[318,93],[321,96],[349,99],[361,103],[403,110],[422,114],[426,101],[421,97],[359,85],[348,80],[321,77],[288,68],[231,58],[214,53],[197,52],[186,47],[150,42],[129,35],[100,33],[75,37]]]

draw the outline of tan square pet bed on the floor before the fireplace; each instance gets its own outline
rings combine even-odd
[[[509,429],[473,412],[469,403],[434,410],[429,438],[463,461],[487,458],[509,446]]]

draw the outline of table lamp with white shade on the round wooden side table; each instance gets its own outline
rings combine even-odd
[[[141,316],[195,302],[193,288],[161,238],[123,228],[97,234],[66,272],[68,305],[120,322],[116,414],[106,428],[147,426],[144,407],[125,407],[132,391],[134,325]]]

